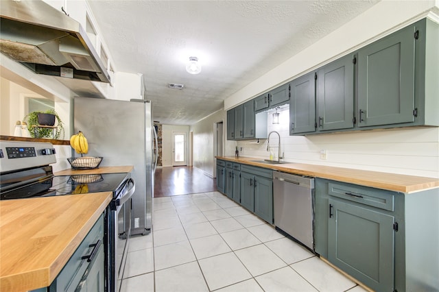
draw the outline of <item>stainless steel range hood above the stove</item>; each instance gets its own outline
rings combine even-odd
[[[38,74],[110,83],[78,21],[41,0],[1,0],[0,51]]]

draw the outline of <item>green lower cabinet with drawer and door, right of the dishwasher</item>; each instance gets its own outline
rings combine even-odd
[[[375,291],[405,291],[404,194],[321,178],[315,187],[316,253]]]

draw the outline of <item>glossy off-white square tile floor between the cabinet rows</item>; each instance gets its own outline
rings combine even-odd
[[[153,199],[121,291],[366,291],[218,192]]]

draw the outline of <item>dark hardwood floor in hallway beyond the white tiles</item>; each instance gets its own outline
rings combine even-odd
[[[216,191],[216,180],[194,167],[163,167],[154,174],[154,197]]]

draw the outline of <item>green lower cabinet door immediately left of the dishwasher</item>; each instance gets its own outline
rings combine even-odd
[[[273,180],[254,177],[254,213],[273,223]]]

